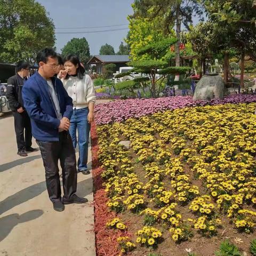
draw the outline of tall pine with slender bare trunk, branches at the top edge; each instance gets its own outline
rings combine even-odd
[[[202,5],[197,0],[135,0],[135,15],[140,17],[164,17],[164,28],[171,33],[176,26],[177,43],[175,44],[175,66],[180,66],[180,34],[181,24],[188,27],[192,23],[193,14],[202,15]],[[177,77],[178,79],[178,77]]]

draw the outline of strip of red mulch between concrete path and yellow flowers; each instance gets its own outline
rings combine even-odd
[[[97,256],[116,256],[120,255],[117,238],[127,236],[126,231],[113,230],[106,227],[108,220],[116,217],[116,213],[108,209],[108,202],[105,189],[102,187],[101,172],[103,169],[99,166],[97,143],[97,131],[95,123],[91,126],[92,138],[92,176],[94,188],[94,232]]]

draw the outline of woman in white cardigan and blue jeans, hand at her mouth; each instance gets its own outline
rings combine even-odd
[[[59,77],[68,95],[73,99],[73,115],[70,119],[69,132],[74,148],[76,148],[76,131],[78,131],[77,172],[89,174],[87,158],[89,133],[94,118],[93,110],[96,100],[94,86],[91,77],[85,74],[85,69],[76,55],[68,55],[64,61],[64,68],[65,70],[60,71]]]

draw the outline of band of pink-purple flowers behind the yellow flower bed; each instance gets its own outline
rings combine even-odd
[[[131,117],[139,118],[158,111],[173,110],[177,108],[250,102],[256,102],[256,95],[232,94],[224,99],[213,99],[211,101],[193,101],[191,96],[116,100],[95,106],[95,122],[97,124],[109,124],[113,122],[123,122]]]

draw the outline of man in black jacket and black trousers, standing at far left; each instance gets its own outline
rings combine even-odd
[[[26,61],[19,61],[17,63],[17,75],[12,76],[7,81],[6,97],[8,99],[10,108],[14,116],[14,127],[18,146],[18,155],[27,156],[26,151],[32,152],[37,149],[32,148],[32,133],[30,118],[26,109],[23,106],[22,100],[22,86],[25,78],[29,74],[29,65]],[[24,139],[25,129],[25,139]]]

